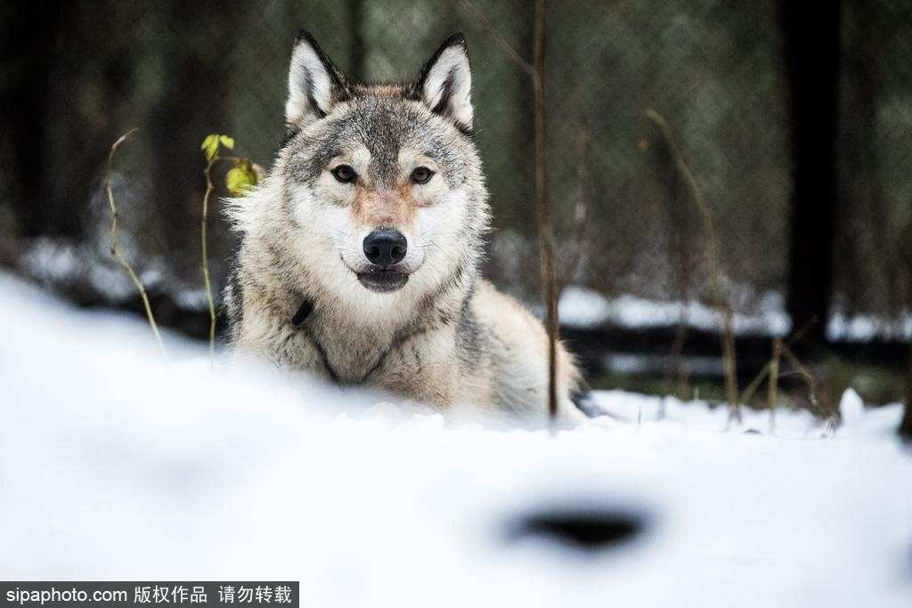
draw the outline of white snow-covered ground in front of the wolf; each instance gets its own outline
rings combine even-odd
[[[448,428],[212,373],[173,336],[163,365],[144,325],[5,276],[0,335],[7,580],[299,580],[320,606],[912,605],[898,406],[849,393],[829,438],[801,414],[725,431],[720,409],[619,392],[598,396],[615,418],[556,437]]]

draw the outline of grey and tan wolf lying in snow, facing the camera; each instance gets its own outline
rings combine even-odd
[[[479,274],[490,210],[472,113],[461,34],[412,82],[364,85],[302,31],[285,142],[227,205],[230,348],[444,413],[544,420],[544,327]],[[575,419],[581,376],[563,345],[556,361],[559,414]]]

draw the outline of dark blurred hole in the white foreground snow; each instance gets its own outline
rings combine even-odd
[[[599,551],[632,541],[646,520],[617,510],[552,510],[530,513],[514,521],[511,541],[544,538],[584,551]]]

